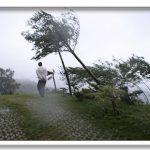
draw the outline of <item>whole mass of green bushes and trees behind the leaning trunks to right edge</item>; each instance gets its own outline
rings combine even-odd
[[[146,62],[143,57],[133,55],[126,61],[114,59],[113,63],[99,60],[98,63],[94,63],[93,66],[87,66],[87,68],[99,80],[100,85],[97,85],[83,68],[67,68],[71,87],[77,97],[84,97],[84,93],[81,92],[84,87],[88,87],[91,93],[93,93],[99,91],[99,89],[104,86],[110,86],[114,89],[122,89],[125,95],[122,96],[121,99],[128,104],[141,103],[139,99],[139,95],[141,94],[144,95],[148,103],[148,97],[139,86],[140,83],[144,83],[150,90],[148,85],[143,81],[144,78],[148,79],[148,71],[150,70],[149,63]],[[60,74],[62,80],[65,80],[64,72],[60,71]],[[134,88],[134,90],[130,91],[130,88]]]

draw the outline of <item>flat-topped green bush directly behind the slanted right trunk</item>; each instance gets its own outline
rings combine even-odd
[[[118,81],[118,75],[115,69],[111,68],[108,62],[100,62],[94,64],[94,66],[86,66],[95,77],[101,83],[99,86],[104,85],[116,85]],[[95,83],[93,78],[81,67],[68,67],[67,72],[69,74],[70,83],[74,92],[79,91],[80,88],[88,84],[89,89],[97,91],[99,86]],[[61,69],[60,75],[62,80],[65,80],[65,73]]]

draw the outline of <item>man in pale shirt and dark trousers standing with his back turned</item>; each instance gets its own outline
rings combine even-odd
[[[36,74],[37,74],[37,77],[39,79],[38,81],[38,84],[37,84],[37,89],[39,91],[39,94],[44,97],[44,94],[45,94],[45,85],[46,85],[46,76],[47,76],[47,70],[46,68],[44,68],[42,66],[42,62],[39,62],[38,63],[38,68],[36,70]]]

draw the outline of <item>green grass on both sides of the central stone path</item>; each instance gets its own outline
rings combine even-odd
[[[60,97],[59,95],[55,95]],[[27,109],[26,101],[36,99],[33,95],[0,96],[0,105],[5,105],[15,112],[20,118],[19,124],[26,133],[27,140],[63,140],[65,137],[54,137],[57,129],[42,124],[35,119]],[[92,124],[113,134],[112,140],[150,140],[150,106],[118,104],[120,114],[112,115],[109,102],[75,101],[74,98],[63,97],[66,105],[73,112],[88,118]],[[55,132],[53,132],[55,130]],[[52,132],[51,132],[52,131]]]

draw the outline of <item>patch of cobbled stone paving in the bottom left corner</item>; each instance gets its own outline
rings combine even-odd
[[[8,108],[0,108],[0,141],[24,140],[24,134],[17,124],[17,117]]]

